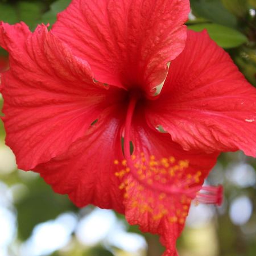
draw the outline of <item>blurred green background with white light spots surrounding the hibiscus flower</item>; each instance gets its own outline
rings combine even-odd
[[[0,0],[0,20],[53,24],[69,0]],[[187,22],[229,52],[256,86],[256,0],[191,0]],[[8,56],[0,48],[0,71]],[[0,95],[0,109],[3,100]],[[232,136],[232,134],[230,134]],[[255,136],[255,134],[251,134]],[[177,242],[180,256],[256,255],[256,160],[242,152],[222,154],[207,183],[223,184],[221,207],[193,205]],[[1,256],[160,256],[158,237],[139,232],[112,210],[76,208],[39,175],[16,169],[0,121]]]

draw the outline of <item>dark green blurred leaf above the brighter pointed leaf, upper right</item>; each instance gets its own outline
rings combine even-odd
[[[228,27],[236,27],[236,16],[229,13],[221,0],[191,0],[192,13]]]

